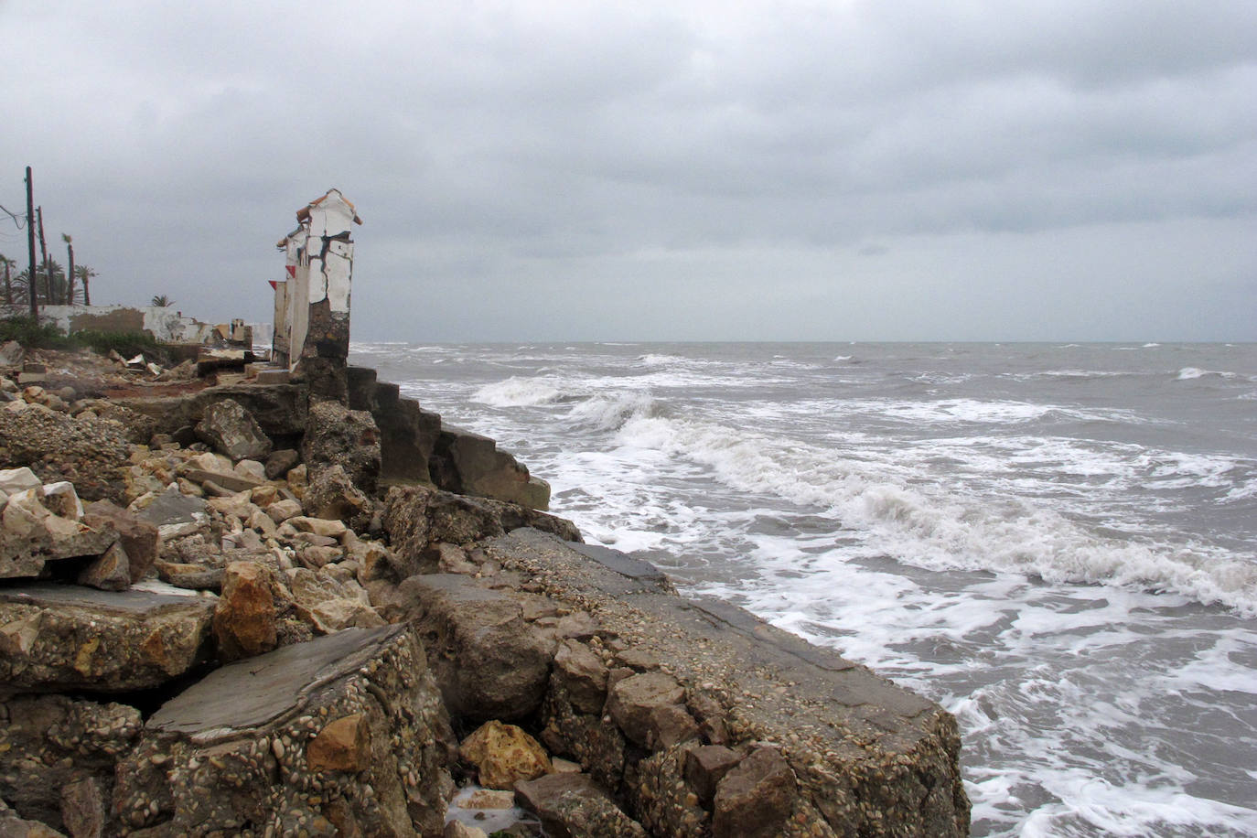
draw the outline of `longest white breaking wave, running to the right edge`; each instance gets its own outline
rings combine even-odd
[[[725,485],[827,509],[870,554],[933,570],[993,570],[1050,583],[1173,592],[1257,614],[1257,564],[1221,549],[1109,538],[1033,501],[998,501],[930,482],[892,459],[835,451],[617,402],[616,442],[708,466]],[[608,408],[610,410],[610,408]],[[603,425],[613,427],[613,425]]]

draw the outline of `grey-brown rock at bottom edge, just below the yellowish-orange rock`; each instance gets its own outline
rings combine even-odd
[[[519,781],[515,800],[554,838],[646,838],[641,824],[621,812],[587,774],[548,774]]]

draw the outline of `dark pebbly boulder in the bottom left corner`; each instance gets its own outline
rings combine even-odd
[[[91,824],[107,817],[117,764],[143,725],[138,710],[59,695],[20,696],[0,701],[0,798],[18,815],[72,835],[114,834]],[[3,818],[0,813],[0,835],[9,834]]]

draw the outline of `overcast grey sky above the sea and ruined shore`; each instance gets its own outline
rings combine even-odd
[[[1257,339],[1257,3],[0,0],[0,204],[96,303],[353,338]],[[0,253],[25,261],[4,220]]]

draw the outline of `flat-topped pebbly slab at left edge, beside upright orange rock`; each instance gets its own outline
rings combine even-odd
[[[161,686],[206,657],[214,598],[0,588],[0,694]]]

